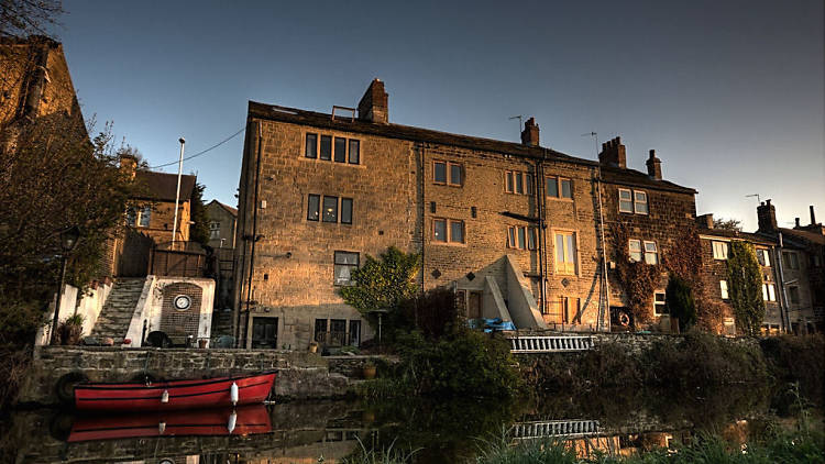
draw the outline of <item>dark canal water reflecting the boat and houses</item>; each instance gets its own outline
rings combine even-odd
[[[627,454],[702,432],[745,442],[800,404],[787,387],[544,395],[514,401],[311,401],[165,415],[16,411],[0,453],[13,463],[334,463],[363,450],[413,453],[414,463],[469,462],[485,441],[558,438],[581,455]],[[771,424],[771,426],[769,426]]]

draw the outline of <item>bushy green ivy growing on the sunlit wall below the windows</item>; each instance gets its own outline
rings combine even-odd
[[[421,267],[421,255],[404,253],[391,246],[380,259],[366,255],[366,263],[352,272],[353,286],[340,290],[344,302],[364,314],[371,324],[371,311],[395,312],[418,292],[415,278]]]

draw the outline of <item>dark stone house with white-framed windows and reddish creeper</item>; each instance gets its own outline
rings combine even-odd
[[[653,150],[649,151],[647,173],[627,167],[626,147],[619,137],[602,144],[598,161],[610,269],[610,322],[625,325],[631,322],[632,316],[627,309],[624,283],[615,273],[616,263],[622,258],[618,252],[630,261],[662,264],[669,252],[681,246],[685,232],[694,228],[696,190],[664,180],[661,161]],[[619,240],[622,243],[617,243]],[[619,246],[625,250],[617,250]],[[653,323],[663,322],[669,328],[664,305],[667,286],[668,275],[663,272],[650,301],[650,313]]]

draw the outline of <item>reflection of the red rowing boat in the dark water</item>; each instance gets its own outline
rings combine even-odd
[[[68,442],[143,437],[251,435],[272,430],[263,405],[75,419]]]

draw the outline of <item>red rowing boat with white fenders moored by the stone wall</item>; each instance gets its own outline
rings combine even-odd
[[[166,411],[263,402],[276,373],[148,384],[80,384],[75,407],[98,411]]]

